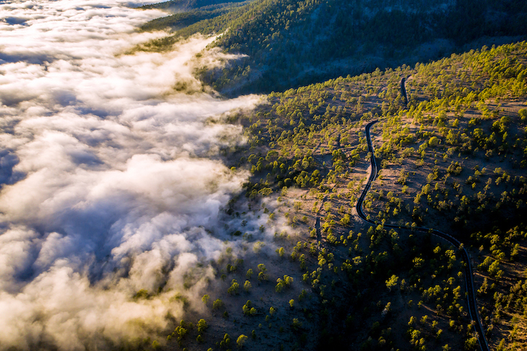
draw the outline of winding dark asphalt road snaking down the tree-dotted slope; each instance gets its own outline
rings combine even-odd
[[[404,81],[402,82],[402,84],[404,84]],[[371,170],[370,170],[370,174],[368,177],[368,182],[366,182],[366,186],[364,187],[364,190],[360,194],[360,198],[356,205],[356,209],[357,209],[357,213],[359,217],[365,222],[368,222],[374,225],[378,225],[381,223],[376,223],[373,220],[369,219],[369,217],[366,217],[366,215],[364,215],[364,211],[362,211],[362,203],[364,202],[364,198],[366,198],[366,194],[368,193],[371,187],[371,182],[375,180],[375,178],[377,177],[377,173],[378,173],[377,161],[375,160],[375,154],[373,153],[373,145],[371,144],[371,137],[370,137],[370,128],[372,125],[374,125],[377,122],[378,120],[373,120],[372,122],[366,125],[366,142],[368,142],[368,151],[371,154],[371,158],[370,158]],[[431,235],[440,237],[443,240],[446,240],[447,242],[453,244],[455,247],[459,248],[459,251],[461,252],[461,255],[462,255],[462,259],[465,263],[464,264],[464,277],[465,277],[465,288],[467,292],[468,312],[471,315],[471,320],[475,321],[474,328],[477,332],[477,341],[479,343],[479,348],[482,351],[490,351],[490,348],[488,348],[488,343],[485,337],[485,333],[483,331],[482,321],[481,321],[481,318],[479,317],[479,312],[477,310],[477,302],[476,302],[476,294],[474,290],[471,259],[468,256],[468,252],[466,251],[462,243],[459,242],[459,240],[457,240],[455,237],[448,235],[446,233],[443,233],[442,231],[436,231],[433,228],[424,228],[422,226],[417,226],[417,227],[396,226],[393,224],[382,224],[382,226],[384,226],[385,228],[409,229],[412,231],[420,231],[422,233],[430,233]]]

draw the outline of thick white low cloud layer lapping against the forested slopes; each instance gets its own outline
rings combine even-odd
[[[225,249],[218,213],[247,175],[214,156],[242,137],[205,121],[258,98],[200,92],[190,61],[211,38],[123,54],[162,35],[127,4],[0,3],[0,350],[142,339]]]

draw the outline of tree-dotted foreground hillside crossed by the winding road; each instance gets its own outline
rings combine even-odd
[[[483,47],[269,94],[251,114],[211,120],[240,123],[248,139],[224,150],[252,174],[226,218],[262,215],[283,230],[272,247],[232,233],[245,260],[227,250],[207,294],[214,305],[191,318],[209,328],[183,321],[167,348],[477,350],[458,248],[383,226],[393,223],[463,242],[490,349],[524,349],[526,54],[526,42]],[[369,226],[354,207],[375,119]]]

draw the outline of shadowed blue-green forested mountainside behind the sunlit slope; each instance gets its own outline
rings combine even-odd
[[[181,37],[229,29],[217,46],[247,57],[222,70],[200,73],[220,92],[284,90],[326,78],[373,72],[461,52],[480,38],[527,34],[523,0],[256,0],[216,16],[177,25],[167,50]],[[199,21],[198,21],[199,20]],[[163,28],[163,23],[148,29]]]

